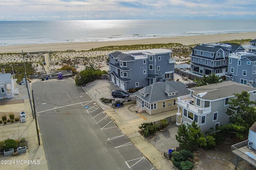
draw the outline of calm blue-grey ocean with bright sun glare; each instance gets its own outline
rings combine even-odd
[[[256,20],[0,21],[0,46],[256,32]]]

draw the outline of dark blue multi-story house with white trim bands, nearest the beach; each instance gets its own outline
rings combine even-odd
[[[228,68],[228,55],[242,52],[241,45],[209,43],[194,47],[191,53],[191,70],[198,74],[224,76]]]

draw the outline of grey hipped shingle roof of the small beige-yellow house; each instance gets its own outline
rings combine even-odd
[[[174,99],[174,98],[178,98],[179,96],[185,96],[190,94],[190,91],[186,87],[188,86],[182,82],[176,82],[176,81],[157,82],[138,90],[134,94],[136,96],[139,96],[140,98],[142,98],[148,103],[154,103],[154,102]],[[167,93],[173,93],[173,92],[176,92],[174,96],[168,96]],[[140,93],[147,94],[147,95],[144,97],[140,95]]]

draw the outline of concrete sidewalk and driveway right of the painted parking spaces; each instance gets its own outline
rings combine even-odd
[[[86,92],[90,94],[94,100],[98,103],[105,113],[118,125],[122,132],[130,138],[134,145],[150,160],[150,162],[158,170],[173,170],[174,166],[164,158],[164,156],[148,142],[140,133],[138,132],[139,126],[142,123],[154,122],[160,119],[165,119],[172,115],[176,115],[177,110],[167,111],[164,113],[149,115],[148,113],[136,113],[135,104],[127,105],[114,109],[110,106],[103,104],[100,98],[111,96],[112,90],[118,89],[113,83],[108,80],[96,80],[84,87]],[[96,95],[95,95],[96,94]]]

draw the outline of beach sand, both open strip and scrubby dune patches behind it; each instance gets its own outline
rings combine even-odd
[[[86,51],[105,46],[119,45],[136,45],[136,44],[157,44],[157,43],[181,43],[183,45],[194,45],[199,43],[214,43],[220,41],[240,39],[256,39],[256,32],[249,33],[230,33],[216,35],[195,35],[182,37],[166,37],[166,38],[151,38],[138,40],[124,41],[104,41],[104,42],[84,42],[84,43],[52,43],[52,44],[37,44],[37,45],[15,45],[15,46],[0,46],[0,63],[15,63],[23,62],[22,51],[24,55],[28,52],[52,51],[50,54],[49,65],[51,70],[61,68],[63,65],[76,66],[76,70],[80,72],[84,70],[84,66],[93,64],[101,70],[108,70],[106,64],[106,55],[113,51]],[[184,47],[183,47],[184,48]],[[67,52],[69,50],[69,52]],[[72,51],[70,51],[72,50]],[[179,47],[171,50],[179,50]],[[184,50],[184,49],[183,49]],[[187,47],[187,50],[190,50]],[[123,51],[121,51],[123,52]],[[10,54],[16,53],[16,54]],[[177,56],[173,51],[172,57],[176,59],[176,64],[183,64],[190,61],[189,56]],[[43,56],[26,57],[26,61],[32,62],[32,66],[36,72],[43,71],[41,66],[44,62]]]

